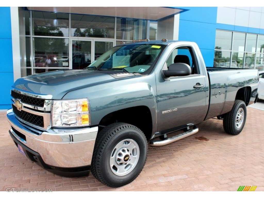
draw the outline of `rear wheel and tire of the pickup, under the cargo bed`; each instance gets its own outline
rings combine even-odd
[[[231,135],[238,135],[244,128],[246,118],[246,104],[242,100],[235,100],[232,110],[226,113],[223,119],[225,132]]]

